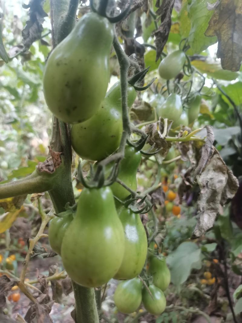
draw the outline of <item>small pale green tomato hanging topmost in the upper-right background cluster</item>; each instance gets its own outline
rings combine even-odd
[[[176,50],[168,54],[159,64],[158,72],[161,78],[170,80],[180,73],[186,61],[186,55],[182,50]]]

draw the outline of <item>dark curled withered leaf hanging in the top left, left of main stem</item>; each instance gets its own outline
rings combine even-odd
[[[44,30],[42,24],[44,18],[48,16],[43,9],[44,3],[45,0],[30,0],[28,5],[23,5],[25,9],[29,8],[29,20],[26,21],[25,28],[22,31],[23,44],[26,50],[35,40],[41,38],[41,33]]]

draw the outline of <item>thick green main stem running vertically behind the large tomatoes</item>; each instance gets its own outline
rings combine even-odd
[[[62,41],[71,28],[75,25],[76,9],[78,0],[51,0],[51,22],[54,47]],[[64,19],[63,19],[64,18]],[[60,146],[64,149],[65,172],[58,177],[58,182],[49,191],[56,212],[65,211],[65,204],[75,203],[72,180],[71,180],[71,160],[72,151],[69,141],[69,127],[63,122],[58,122],[56,118],[52,125],[51,145],[55,148]],[[60,150],[58,150],[60,151]],[[86,288],[72,282],[76,307],[76,323],[99,323],[94,288]]]

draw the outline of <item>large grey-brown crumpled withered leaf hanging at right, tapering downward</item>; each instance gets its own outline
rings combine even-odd
[[[200,194],[197,201],[198,220],[192,239],[200,237],[213,226],[221,206],[231,199],[238,189],[237,178],[228,170],[214,147],[203,170],[197,172],[196,179]]]

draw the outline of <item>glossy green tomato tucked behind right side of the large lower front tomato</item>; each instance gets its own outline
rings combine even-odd
[[[115,279],[131,279],[142,270],[147,255],[147,237],[139,214],[123,208],[119,212],[125,234],[124,257]]]

